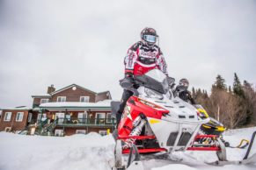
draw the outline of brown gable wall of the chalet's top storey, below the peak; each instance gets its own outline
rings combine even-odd
[[[65,89],[59,93],[52,96],[52,102],[57,102],[58,96],[66,96],[66,102],[80,102],[80,96],[90,96],[89,102],[95,103],[95,94],[84,89],[77,87],[76,90],[72,88]]]

